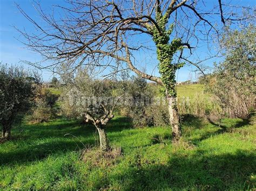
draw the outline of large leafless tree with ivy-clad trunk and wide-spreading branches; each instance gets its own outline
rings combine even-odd
[[[241,6],[224,4],[221,0],[71,0],[65,6],[54,5],[60,14],[52,11],[52,15],[37,3],[40,21],[17,6],[36,27],[33,33],[18,30],[25,38],[23,43],[44,58],[42,62],[32,63],[34,66],[56,71],[60,65],[71,70],[88,65],[99,73],[111,68],[105,77],[127,66],[139,76],[163,86],[174,141],[181,137],[176,104],[177,70],[188,64],[203,72],[204,61],[215,55],[211,43],[218,39],[219,27],[243,22],[235,12]],[[208,51],[202,56],[197,49]],[[145,52],[156,55],[151,72],[157,70],[160,77],[140,69],[143,60],[138,55]],[[45,66],[45,60],[52,62]]]

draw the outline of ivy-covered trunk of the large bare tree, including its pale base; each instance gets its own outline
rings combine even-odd
[[[183,48],[181,39],[174,38],[170,42],[170,34],[173,31],[173,24],[166,29],[167,15],[162,15],[158,10],[156,19],[159,29],[149,27],[149,31],[153,34],[153,41],[157,47],[157,59],[159,60],[159,73],[161,74],[161,82],[165,90],[166,100],[170,115],[170,123],[172,125],[172,140],[177,142],[181,137],[180,119],[177,108],[177,91],[176,91],[176,71],[183,67],[184,63],[172,63],[173,55]]]

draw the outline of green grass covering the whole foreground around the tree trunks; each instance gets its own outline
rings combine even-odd
[[[126,118],[114,118],[107,135],[122,156],[98,163],[81,159],[84,145],[98,144],[92,126],[66,119],[23,124],[0,144],[0,190],[255,188],[255,125],[184,119],[183,139],[173,145],[168,127],[131,129]]]

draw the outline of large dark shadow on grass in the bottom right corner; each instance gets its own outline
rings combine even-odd
[[[125,190],[154,189],[248,189],[253,188],[256,156],[237,151],[235,154],[196,153],[191,157],[172,155],[167,164],[142,163],[139,159],[113,179]]]

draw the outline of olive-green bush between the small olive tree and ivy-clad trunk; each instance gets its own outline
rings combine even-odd
[[[126,103],[119,105],[120,114],[130,117],[136,128],[168,124],[166,101],[156,83],[147,83],[140,76],[121,82],[125,84]]]

